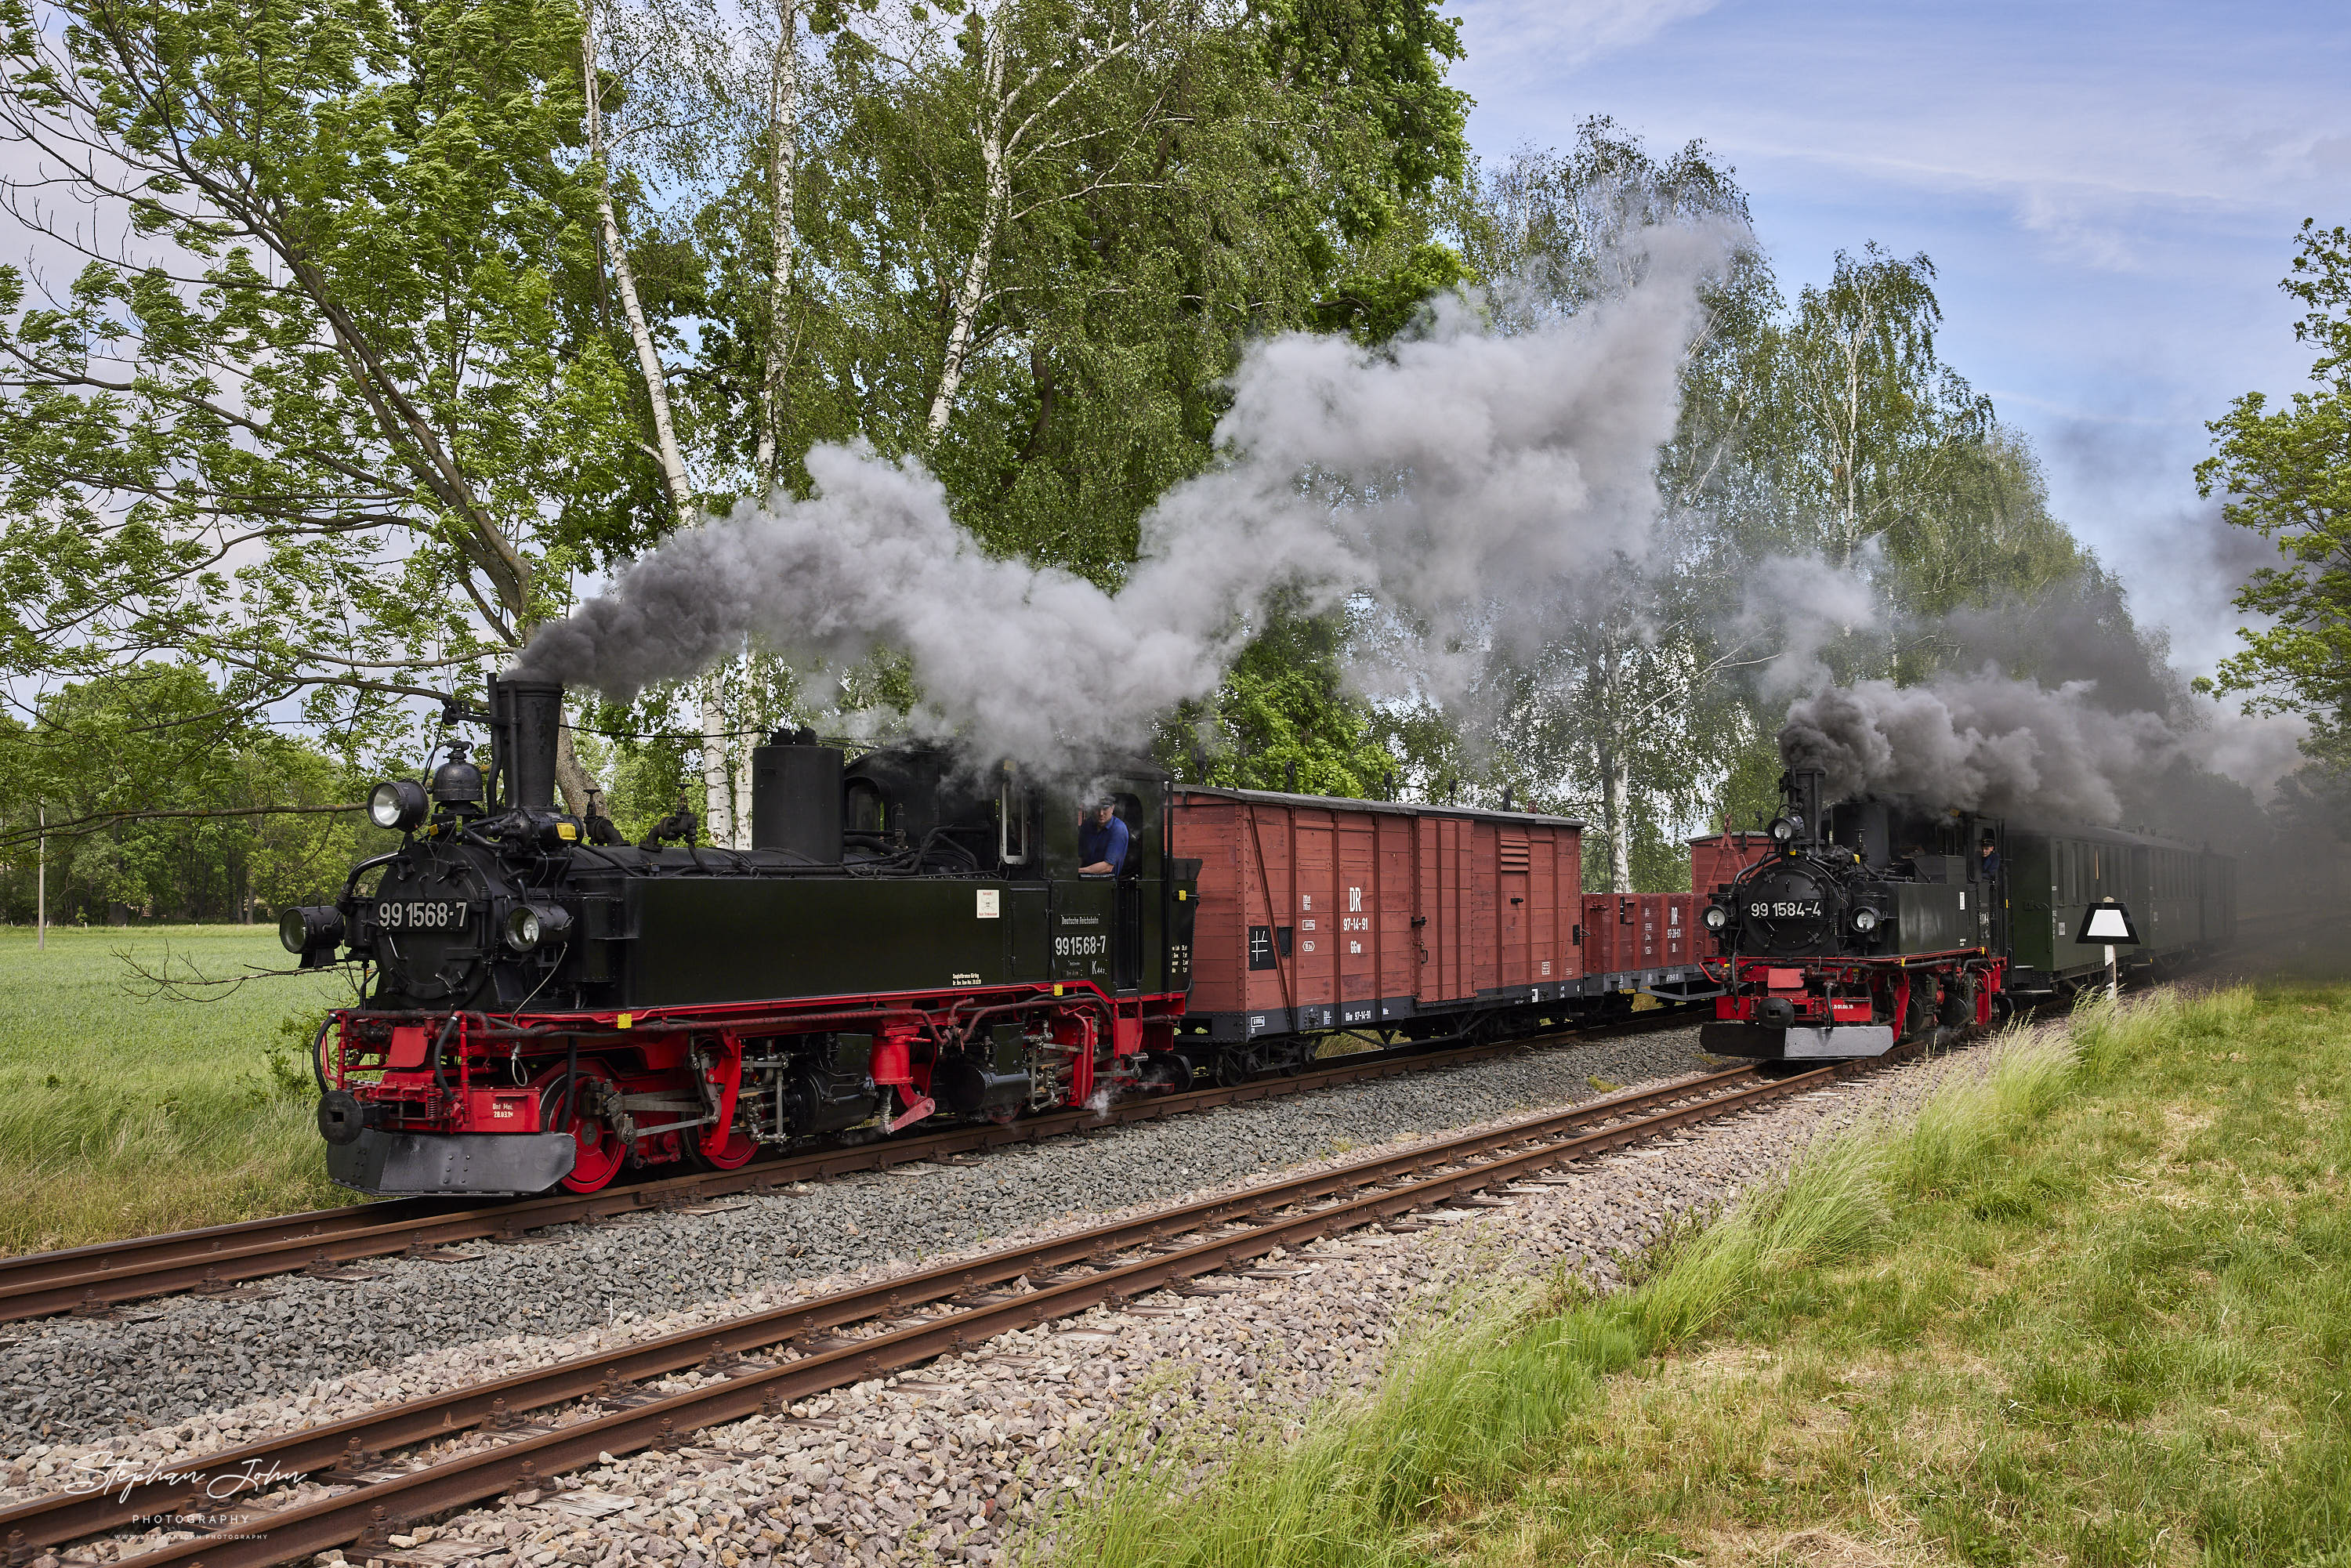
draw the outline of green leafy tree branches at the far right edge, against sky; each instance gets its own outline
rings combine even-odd
[[[2245,693],[2248,712],[2299,712],[2304,750],[2351,766],[2351,230],[2302,223],[2292,275],[2302,301],[2295,339],[2316,350],[2316,390],[2271,411],[2245,393],[2212,421],[2215,454],[2196,465],[2201,494],[2222,491],[2222,515],[2278,545],[2283,567],[2262,567],[2238,609],[2271,625],[2243,630],[2245,651],[2219,668],[2215,689]]]

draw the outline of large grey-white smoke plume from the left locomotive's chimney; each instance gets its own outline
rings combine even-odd
[[[1218,423],[1227,461],[1152,505],[1117,595],[990,559],[915,463],[816,447],[813,498],[745,501],[670,538],[543,628],[517,675],[625,698],[745,637],[830,665],[893,646],[915,663],[919,726],[1070,771],[1208,696],[1241,621],[1286,585],[1317,607],[1373,592],[1434,642],[1472,623],[1507,637],[1514,602],[1641,552],[1697,284],[1730,240],[1648,230],[1625,296],[1507,336],[1455,299],[1382,355],[1305,334],[1253,346]]]

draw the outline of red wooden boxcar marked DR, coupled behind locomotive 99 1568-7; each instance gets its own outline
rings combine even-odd
[[[1215,1039],[1441,1034],[1585,992],[1582,823],[1176,785],[1168,844],[1201,863],[1187,1020]]]

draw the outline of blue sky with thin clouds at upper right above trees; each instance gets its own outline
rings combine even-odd
[[[1481,155],[1606,113],[1735,165],[1789,294],[1864,240],[1933,256],[1944,357],[2034,437],[2057,512],[2184,668],[2231,649],[2266,545],[2191,468],[2231,397],[2306,386],[2276,284],[2304,216],[2351,223],[2351,5],[1451,9]]]

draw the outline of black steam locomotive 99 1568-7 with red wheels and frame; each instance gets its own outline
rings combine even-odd
[[[623,844],[555,809],[562,686],[494,679],[489,712],[456,717],[489,724],[489,773],[451,743],[430,783],[379,785],[402,846],[280,926],[306,966],[364,966],[364,1004],[320,1037],[343,1185],[595,1192],[623,1166],[1192,1077],[1199,865],[1166,853],[1150,764],[1100,785],[1128,851],[1098,875],[1077,804],[1009,766],[844,762],[809,733],[752,755],[755,849],[686,820]]]

